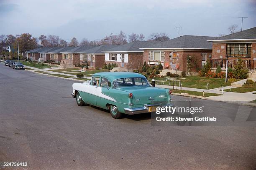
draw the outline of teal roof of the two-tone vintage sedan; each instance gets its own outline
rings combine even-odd
[[[116,79],[120,78],[130,78],[130,77],[141,77],[145,78],[145,76],[135,73],[135,72],[98,72],[93,74],[92,76],[104,76],[110,79],[111,81],[114,81]]]

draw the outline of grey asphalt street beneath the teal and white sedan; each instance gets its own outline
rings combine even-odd
[[[77,106],[72,83],[0,63],[0,169],[256,169],[256,122],[230,125],[224,114],[237,108],[236,120],[246,120],[246,110],[256,113],[251,106],[207,101],[223,125],[154,125],[150,114],[116,120],[108,110]]]

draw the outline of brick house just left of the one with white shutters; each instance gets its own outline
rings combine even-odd
[[[102,67],[105,63],[104,50],[109,50],[118,45],[97,45],[97,46],[82,46],[74,51],[74,64],[78,65],[87,63],[88,66],[94,68]]]

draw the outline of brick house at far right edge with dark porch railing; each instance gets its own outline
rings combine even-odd
[[[256,68],[256,27],[208,41],[212,42],[212,68],[225,69],[227,58],[228,67],[233,68],[239,57],[245,69]]]

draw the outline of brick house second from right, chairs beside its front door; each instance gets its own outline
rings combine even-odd
[[[171,40],[155,42],[143,47],[143,62],[158,65],[164,69],[188,72],[188,57],[191,58],[191,72],[197,72],[212,56],[212,40],[217,37],[183,35]]]

